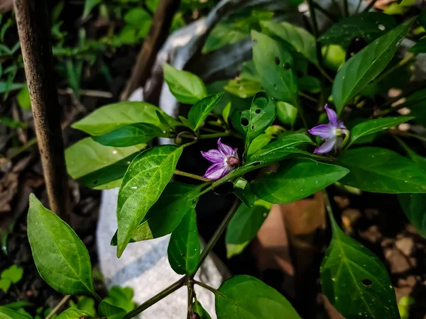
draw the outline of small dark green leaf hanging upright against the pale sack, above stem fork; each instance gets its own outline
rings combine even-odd
[[[200,238],[197,230],[195,208],[183,216],[170,235],[167,250],[170,266],[177,274],[194,274],[200,262]]]

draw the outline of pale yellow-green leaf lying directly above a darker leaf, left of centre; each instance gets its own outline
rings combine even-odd
[[[179,124],[157,106],[146,102],[121,102],[98,108],[72,124],[72,128],[82,130],[89,135],[102,135],[121,128],[121,126],[135,123],[148,123],[166,130],[161,124],[157,112],[160,112],[171,126]]]

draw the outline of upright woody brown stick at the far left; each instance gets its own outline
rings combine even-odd
[[[14,9],[50,209],[69,220],[70,199],[47,3],[15,0]]]

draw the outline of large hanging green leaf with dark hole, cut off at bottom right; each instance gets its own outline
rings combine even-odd
[[[330,218],[333,237],[320,268],[322,291],[330,303],[348,319],[399,319],[395,291],[380,259]]]

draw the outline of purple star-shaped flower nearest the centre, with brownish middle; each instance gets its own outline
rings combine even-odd
[[[219,138],[219,140],[217,140],[217,150],[201,152],[204,158],[213,163],[212,166],[207,169],[204,178],[220,179],[236,169],[239,164],[237,150],[237,148],[232,150],[232,147],[222,144]]]

